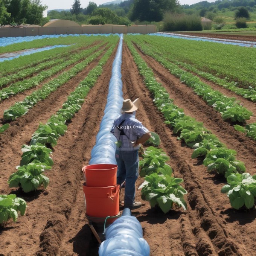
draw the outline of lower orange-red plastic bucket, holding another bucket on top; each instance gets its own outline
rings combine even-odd
[[[88,187],[83,186],[86,215],[97,218],[116,216],[119,214],[119,190],[120,186]]]

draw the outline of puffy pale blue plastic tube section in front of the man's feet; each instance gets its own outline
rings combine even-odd
[[[128,208],[105,230],[105,235],[99,256],[149,256],[150,248],[143,239],[142,226]]]

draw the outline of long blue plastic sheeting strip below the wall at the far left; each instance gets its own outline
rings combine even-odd
[[[119,34],[70,34],[70,35],[37,35],[35,37],[2,37],[0,38],[0,46],[7,46],[10,44],[22,43],[22,42],[30,42],[37,39],[43,38],[58,38],[58,37],[80,37],[81,35],[85,35],[87,37],[91,36],[105,36],[109,37],[110,35],[118,35]]]

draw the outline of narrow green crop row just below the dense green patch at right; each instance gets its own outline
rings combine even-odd
[[[143,41],[142,41],[143,42]],[[196,74],[198,74],[199,76],[217,84],[220,85],[230,91],[233,91],[234,93],[241,95],[242,97],[244,97],[245,99],[249,99],[250,101],[256,102],[256,90],[255,88],[249,86],[248,89],[246,88],[241,88],[238,86],[238,82],[233,82],[233,81],[226,81],[226,79],[221,79],[218,78],[216,76],[213,76],[210,73],[204,72],[204,71],[200,71],[198,69],[196,69],[195,67],[193,67],[190,64],[187,64],[185,62],[181,62],[181,61],[177,61],[175,59],[172,58],[172,56],[163,48],[158,46],[158,43],[156,42],[151,42],[152,45],[154,45],[154,47],[152,47],[152,51],[154,51],[157,54],[160,54],[162,57],[165,57],[166,60],[173,62],[174,64],[183,67],[184,69],[190,71],[190,72],[194,72]],[[157,49],[157,51],[155,51],[155,49]]]

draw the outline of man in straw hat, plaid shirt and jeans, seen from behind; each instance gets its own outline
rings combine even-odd
[[[138,99],[131,102],[123,101],[122,115],[114,120],[111,133],[117,138],[116,162],[117,184],[125,181],[124,206],[136,209],[141,202],[135,202],[135,182],[139,176],[139,148],[140,143],[146,142],[151,137],[148,129],[135,118],[138,109]]]

